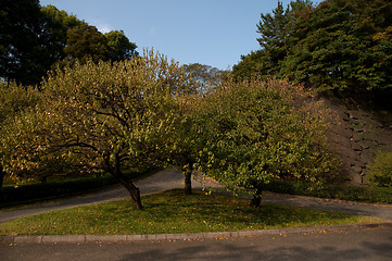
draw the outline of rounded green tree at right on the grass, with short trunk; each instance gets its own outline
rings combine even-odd
[[[333,179],[338,161],[328,147],[327,111],[301,86],[270,79],[226,82],[199,104],[203,172],[254,196],[276,179]]]

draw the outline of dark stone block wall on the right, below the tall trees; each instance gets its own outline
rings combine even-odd
[[[341,157],[342,175],[349,184],[366,184],[368,163],[378,152],[392,151],[392,115],[333,99],[325,103],[334,120],[328,136]]]

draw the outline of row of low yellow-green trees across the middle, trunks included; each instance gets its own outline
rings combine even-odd
[[[14,179],[110,173],[139,209],[140,191],[124,175],[138,166],[180,167],[187,194],[201,167],[253,195],[255,206],[270,181],[333,178],[328,113],[308,91],[231,77],[199,89],[184,66],[152,51],[121,62],[76,62],[53,72],[40,91],[2,84],[1,173]]]

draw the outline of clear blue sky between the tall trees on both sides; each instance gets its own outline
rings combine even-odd
[[[281,0],[286,7],[290,0]],[[124,30],[138,51],[226,70],[260,48],[256,24],[278,0],[40,0],[97,26]]]

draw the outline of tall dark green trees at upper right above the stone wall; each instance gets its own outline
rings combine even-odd
[[[237,77],[253,73],[317,91],[392,98],[392,3],[388,0],[281,2],[257,24],[261,50],[242,57]]]

